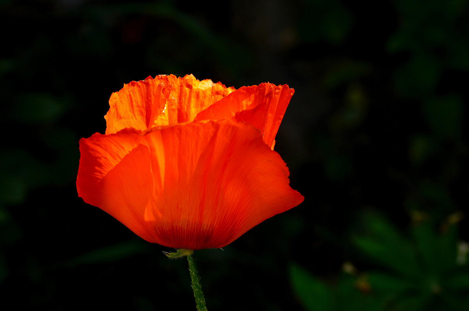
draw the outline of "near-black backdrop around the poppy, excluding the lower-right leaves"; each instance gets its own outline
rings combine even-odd
[[[421,218],[438,234],[455,219],[457,241],[469,240],[468,10],[467,0],[1,0],[1,308],[195,310],[184,259],[76,193],[78,140],[104,133],[112,92],[149,75],[295,89],[275,150],[305,200],[224,251],[195,253],[209,310],[302,310],[294,262],[330,286],[344,262],[378,267],[352,242],[370,213],[404,237]]]

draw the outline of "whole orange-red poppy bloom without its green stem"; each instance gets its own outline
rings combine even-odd
[[[106,134],[80,140],[78,195],[149,242],[223,247],[304,199],[273,151],[293,93],[193,75],[125,84]]]

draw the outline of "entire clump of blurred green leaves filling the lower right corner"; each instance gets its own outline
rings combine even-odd
[[[453,214],[434,230],[425,213],[414,212],[410,236],[368,214],[367,234],[353,243],[381,269],[359,272],[350,262],[338,280],[325,282],[297,264],[292,288],[306,310],[469,310],[469,244],[458,241]]]

